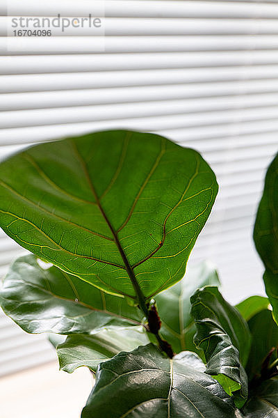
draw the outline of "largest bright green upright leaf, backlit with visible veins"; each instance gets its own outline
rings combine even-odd
[[[183,277],[217,191],[195,150],[97,132],[2,162],[0,226],[65,272],[142,301]]]

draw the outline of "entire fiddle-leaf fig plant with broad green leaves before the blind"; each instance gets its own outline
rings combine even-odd
[[[254,231],[274,314],[275,164]],[[10,266],[1,307],[63,335],[60,369],[95,374],[82,418],[278,417],[268,298],[232,307],[213,265],[185,274],[217,192],[201,155],[154,134],[97,132],[0,164],[0,226],[33,253]]]

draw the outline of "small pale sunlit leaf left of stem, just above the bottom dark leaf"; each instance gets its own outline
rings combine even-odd
[[[87,366],[96,371],[99,363],[123,350],[134,350],[149,343],[142,327],[101,330],[94,335],[70,335],[56,350],[60,369],[72,373],[77,367]]]

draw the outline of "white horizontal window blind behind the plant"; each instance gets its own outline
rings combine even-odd
[[[85,28],[6,36],[13,17],[88,10],[102,17],[105,36]],[[0,15],[1,157],[108,128],[196,148],[220,192],[190,263],[218,265],[231,302],[263,294],[252,225],[278,149],[278,2],[10,0]],[[24,252],[1,233],[0,274]],[[1,314],[0,375],[53,358],[44,336],[24,334]]]

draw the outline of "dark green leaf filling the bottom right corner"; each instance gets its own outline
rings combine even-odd
[[[243,408],[245,418],[278,418],[278,378],[256,388]]]

